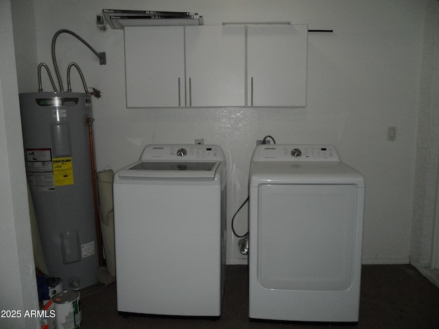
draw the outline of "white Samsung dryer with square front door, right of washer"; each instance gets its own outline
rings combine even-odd
[[[363,176],[331,145],[258,145],[249,190],[249,317],[357,322]]]

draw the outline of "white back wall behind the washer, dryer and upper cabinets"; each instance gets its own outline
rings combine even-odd
[[[93,99],[98,170],[120,169],[149,143],[204,138],[223,147],[229,166],[228,263],[245,261],[230,219],[247,196],[255,141],[268,134],[277,143],[335,145],[366,177],[364,263],[408,263],[426,1],[40,0],[35,8],[38,62],[51,63],[51,38],[64,28],[106,51],[108,64],[99,66],[93,53],[67,34],[56,46],[64,85],[67,65],[74,61],[88,86],[103,92]],[[334,33],[309,34],[307,108],[127,109],[123,32],[97,29],[95,15],[103,8],[193,11],[206,25],[292,21]],[[80,81],[74,76],[72,81],[73,90],[82,91]],[[46,77],[43,82],[49,90]],[[397,127],[396,141],[387,141],[388,126]],[[246,230],[246,215],[244,210],[237,216],[239,232]]]

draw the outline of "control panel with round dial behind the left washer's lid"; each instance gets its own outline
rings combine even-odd
[[[156,144],[147,145],[141,154],[140,160],[175,160],[181,161],[224,161],[224,152],[219,145],[205,144]]]

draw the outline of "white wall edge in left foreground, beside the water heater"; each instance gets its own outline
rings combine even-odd
[[[30,329],[38,321],[24,314],[38,309],[38,297],[9,0],[0,1],[0,44],[0,310],[22,314],[2,316],[0,328]]]

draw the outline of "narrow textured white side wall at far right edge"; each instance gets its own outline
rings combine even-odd
[[[423,64],[416,149],[412,263],[431,266],[434,225],[439,226],[439,3],[428,1],[424,24]],[[436,213],[435,213],[436,212]],[[436,216],[436,217],[435,217]],[[439,228],[436,228],[439,232]],[[436,241],[438,243],[438,241]],[[438,258],[439,259],[439,258]],[[436,264],[439,267],[439,263]],[[439,282],[439,275],[436,282]]]

